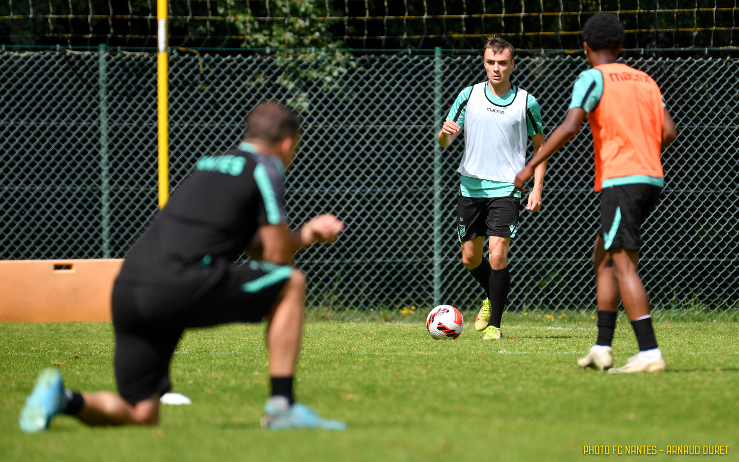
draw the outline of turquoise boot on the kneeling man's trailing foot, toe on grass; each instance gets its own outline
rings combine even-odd
[[[18,425],[27,433],[42,432],[49,427],[52,417],[67,404],[61,373],[55,369],[41,371],[36,384],[18,414]]]

